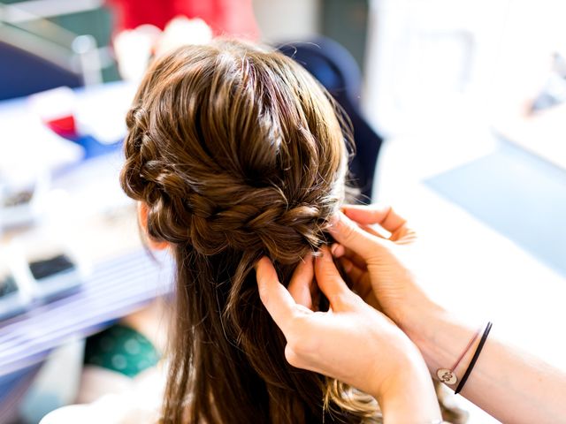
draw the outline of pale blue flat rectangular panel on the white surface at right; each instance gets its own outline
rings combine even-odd
[[[502,144],[424,183],[566,276],[564,170]]]

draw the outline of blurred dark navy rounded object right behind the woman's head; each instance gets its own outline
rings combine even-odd
[[[362,76],[354,57],[337,42],[316,38],[310,42],[281,44],[279,51],[302,64],[346,111],[354,127],[356,156],[350,171],[354,185],[362,191],[363,203],[371,202],[373,176],[382,139],[360,110]]]

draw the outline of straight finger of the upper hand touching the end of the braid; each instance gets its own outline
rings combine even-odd
[[[328,231],[340,245],[353,250],[365,261],[370,259],[376,253],[376,249],[386,241],[364,231],[342,212],[334,216],[333,224]]]

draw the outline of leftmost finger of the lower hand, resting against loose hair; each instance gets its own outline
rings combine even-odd
[[[265,256],[256,263],[256,279],[264,307],[285,334],[288,323],[294,316],[296,303],[283,284],[279,283],[272,261]]]

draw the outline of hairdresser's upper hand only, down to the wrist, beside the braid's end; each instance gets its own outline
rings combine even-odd
[[[356,292],[402,329],[436,308],[404,261],[416,233],[393,208],[347,206],[329,230],[339,243],[333,255],[340,258]]]

